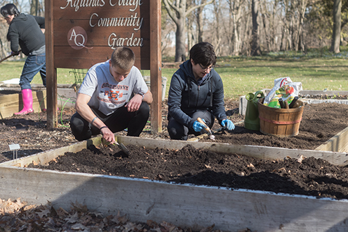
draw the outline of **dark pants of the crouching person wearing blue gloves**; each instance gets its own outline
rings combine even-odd
[[[214,116],[209,111],[198,110],[189,116],[193,118],[194,121],[196,121],[198,117],[204,119],[206,122],[205,124],[207,124],[207,126],[210,128],[214,125]],[[182,125],[174,118],[169,118],[167,129],[171,139],[178,140],[187,140],[189,134],[198,136],[207,132],[204,129],[200,132],[196,132],[192,127],[189,128],[185,125]]]

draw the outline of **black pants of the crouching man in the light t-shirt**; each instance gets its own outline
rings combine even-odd
[[[129,112],[127,107],[118,108],[113,114],[106,116],[97,109],[91,108],[95,116],[100,118],[109,129],[115,133],[127,129],[128,136],[139,137],[150,115],[148,103],[142,102],[138,111]],[[99,134],[99,128],[90,125],[82,116],[75,113],[70,119],[72,134],[78,141],[90,139],[92,135]]]

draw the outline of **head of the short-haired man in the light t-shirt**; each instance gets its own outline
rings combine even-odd
[[[135,62],[135,55],[128,47],[117,47],[111,55],[111,65],[122,70],[130,70]]]

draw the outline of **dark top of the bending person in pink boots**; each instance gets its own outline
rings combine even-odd
[[[11,43],[11,50],[17,52],[18,46],[28,56],[45,45],[45,18],[24,13],[15,17],[8,27],[7,38]]]

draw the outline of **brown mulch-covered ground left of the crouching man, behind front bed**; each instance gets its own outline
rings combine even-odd
[[[74,109],[59,111],[59,125],[53,129],[47,128],[46,112],[0,119],[0,162],[13,159],[14,150],[10,150],[10,144],[19,144],[17,155],[24,157],[76,143],[69,127],[73,113]]]

